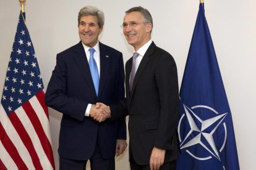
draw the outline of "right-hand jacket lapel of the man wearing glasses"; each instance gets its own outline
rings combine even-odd
[[[153,51],[155,49],[155,43],[152,42],[150,46],[148,47],[145,55],[142,58],[142,61],[140,62],[140,65],[136,71],[135,77],[134,77],[134,84],[132,85],[132,92],[130,93],[130,97],[132,97],[132,94],[134,93],[134,89],[136,87],[137,81],[139,80],[140,76],[142,75],[142,72],[147,65],[148,61],[150,60],[150,55],[153,54]],[[129,71],[130,73],[130,71]]]

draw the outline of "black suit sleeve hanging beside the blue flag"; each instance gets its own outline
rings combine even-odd
[[[160,58],[155,78],[161,106],[155,147],[172,150],[178,116],[179,85],[176,63],[171,55],[165,54]]]

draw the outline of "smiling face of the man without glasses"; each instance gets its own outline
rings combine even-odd
[[[80,18],[79,37],[86,46],[95,46],[101,31],[102,28],[98,25],[98,18],[96,16],[88,15]]]

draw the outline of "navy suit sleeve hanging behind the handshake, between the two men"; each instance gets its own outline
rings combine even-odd
[[[116,84],[117,89],[117,101],[124,100],[124,61],[121,57],[119,57],[119,74],[118,80]],[[126,118],[123,117],[118,120],[118,127],[117,127],[117,139],[126,139]]]

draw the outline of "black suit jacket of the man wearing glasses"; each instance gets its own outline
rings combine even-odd
[[[176,124],[179,87],[173,57],[152,42],[129,91],[132,59],[126,63],[126,100],[111,105],[111,119],[129,114],[129,151],[137,164],[149,164],[153,147],[166,149],[164,162],[178,156]]]

